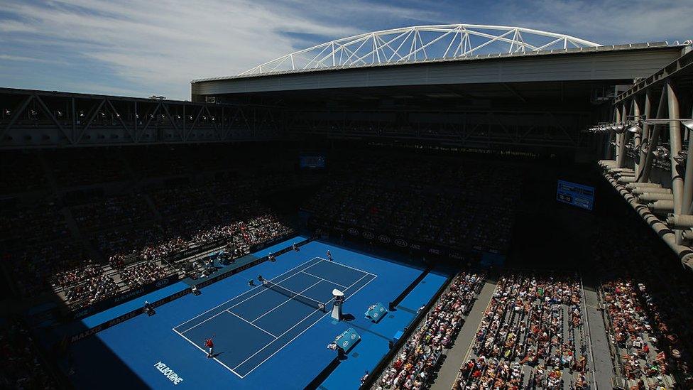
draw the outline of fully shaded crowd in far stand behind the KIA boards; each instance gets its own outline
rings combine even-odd
[[[364,153],[332,161],[303,209],[319,227],[357,227],[454,249],[504,252],[518,202],[516,168]]]

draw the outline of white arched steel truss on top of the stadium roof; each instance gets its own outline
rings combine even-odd
[[[338,67],[363,67],[598,48],[599,43],[560,33],[510,26],[446,24],[374,31],[298,50],[237,77]],[[221,80],[214,77],[193,82]]]

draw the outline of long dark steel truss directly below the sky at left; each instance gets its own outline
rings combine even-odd
[[[277,107],[0,89],[0,148],[276,139]]]

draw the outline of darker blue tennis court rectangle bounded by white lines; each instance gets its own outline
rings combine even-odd
[[[332,290],[345,300],[376,275],[315,257],[173,327],[200,353],[214,335],[214,360],[240,378],[315,325],[332,309]],[[325,345],[332,340],[324,340]]]

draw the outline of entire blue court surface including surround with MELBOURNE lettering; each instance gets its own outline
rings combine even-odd
[[[324,259],[327,249],[334,261]],[[361,341],[324,375],[320,389],[356,389],[447,275],[429,273],[378,323],[364,312],[376,302],[387,305],[421,272],[363,251],[310,242],[213,283],[200,296],[166,303],[151,317],[138,315],[76,342],[63,368],[74,369],[70,380],[78,389],[303,389],[333,361],[336,354],[327,345],[352,327]],[[278,286],[249,286],[258,274]],[[334,288],[344,292],[348,320],[329,316]],[[119,310],[100,313],[99,320]],[[212,336],[214,358],[207,359],[204,340]]]

